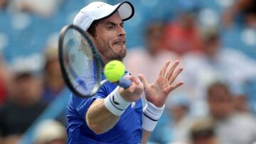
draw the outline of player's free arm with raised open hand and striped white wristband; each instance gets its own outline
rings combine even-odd
[[[174,62],[170,70],[166,71],[170,61],[165,62],[164,66],[161,68],[158,79],[152,84],[149,84],[146,81],[146,78],[142,74],[139,74],[139,79],[141,79],[144,84],[144,91],[147,100],[146,106],[143,110],[144,114],[142,116],[142,144],[147,142],[151,131],[154,130],[157,121],[161,117],[161,114],[164,111],[164,104],[169,93],[183,84],[183,82],[174,83],[178,74],[183,70],[182,68],[176,70],[178,63],[178,61]],[[154,121],[151,121],[151,119]]]

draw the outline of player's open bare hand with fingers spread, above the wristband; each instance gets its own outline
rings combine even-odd
[[[152,84],[149,84],[147,82],[144,75],[139,74],[139,79],[141,79],[142,83],[144,84],[146,100],[159,108],[164,106],[164,103],[169,93],[183,84],[183,82],[177,82],[173,84],[174,80],[183,69],[179,68],[178,70],[175,70],[179,63],[178,61],[176,61],[171,66],[170,70],[166,72],[166,69],[169,66],[170,62],[171,61],[166,61],[164,63],[164,66],[161,68],[161,71],[159,73],[158,79],[156,79],[156,82]]]

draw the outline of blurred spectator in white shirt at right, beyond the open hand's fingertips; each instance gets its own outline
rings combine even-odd
[[[216,80],[242,87],[256,77],[256,61],[238,50],[222,48],[216,28],[204,32],[203,46],[203,52],[189,52],[181,57],[181,77],[193,99],[203,99],[207,86]]]

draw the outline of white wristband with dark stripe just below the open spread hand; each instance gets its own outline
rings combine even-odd
[[[146,101],[146,106],[144,107],[143,114],[142,114],[142,128],[145,131],[154,130],[159,118],[164,112],[164,106],[161,108],[158,108],[154,106],[154,104],[151,104],[151,102]]]

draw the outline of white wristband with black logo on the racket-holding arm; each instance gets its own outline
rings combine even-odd
[[[114,91],[104,99],[104,104],[111,113],[116,116],[121,116],[131,102],[125,101],[122,96],[120,96],[118,89],[119,87],[114,89]]]

